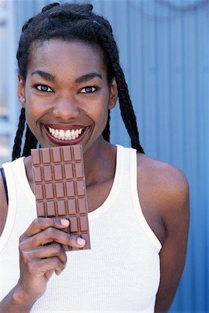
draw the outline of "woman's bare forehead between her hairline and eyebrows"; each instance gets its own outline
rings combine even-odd
[[[93,70],[107,72],[100,46],[60,39],[33,43],[29,52],[27,74],[37,69],[57,74],[68,72],[74,76]]]

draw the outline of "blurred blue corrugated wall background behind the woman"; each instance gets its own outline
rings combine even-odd
[[[50,2],[0,0],[0,166],[11,159],[20,113],[15,53],[22,25]],[[189,180],[187,261],[169,312],[209,312],[209,1],[88,2],[112,25],[146,154]],[[111,142],[130,146],[118,107]]]

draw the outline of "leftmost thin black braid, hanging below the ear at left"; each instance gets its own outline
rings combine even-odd
[[[13,160],[20,158],[24,124],[25,124],[25,109],[22,108],[21,113],[20,113],[20,119],[19,119],[19,124],[18,124],[18,128],[17,128],[17,133],[15,136],[15,143],[13,145],[13,155],[12,155]]]

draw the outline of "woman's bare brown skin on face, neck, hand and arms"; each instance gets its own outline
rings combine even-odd
[[[61,45],[63,49],[60,49]],[[59,52],[62,51],[63,65],[59,64],[59,67],[54,70],[56,49],[59,49]],[[68,58],[69,54],[71,62]],[[93,61],[89,62],[92,55]],[[86,63],[86,58],[88,63]],[[102,62],[102,51],[98,47],[89,47],[81,42],[50,40],[46,45],[37,48],[36,55],[33,54],[32,59],[28,67],[26,82],[19,77],[18,88],[18,97],[26,109],[29,126],[42,147],[57,145],[54,141],[50,141],[45,130],[42,129],[42,125],[47,125],[48,121],[50,124],[72,125],[74,123],[86,127],[81,144],[84,149],[88,209],[93,211],[106,200],[114,181],[116,147],[104,141],[102,129],[107,122],[107,109],[113,109],[116,104],[116,83],[112,81],[109,85],[107,81],[107,69]],[[41,63],[40,60],[42,60]],[[37,77],[37,74],[32,74],[37,69],[53,74],[56,82],[47,81],[46,78],[39,77],[40,75]],[[83,73],[88,72],[98,72],[102,79],[95,77],[78,86],[75,78],[82,77]],[[43,95],[42,91],[31,87],[34,83],[49,86],[53,93]],[[99,91],[87,96],[81,89],[84,86],[99,86]],[[79,92],[75,93],[75,90]],[[86,97],[88,97],[87,102]],[[39,107],[39,102],[40,104],[45,102],[45,106]],[[84,106],[85,102],[86,106]],[[94,102],[97,106],[95,108],[94,105],[91,109],[90,104]],[[26,157],[24,162],[26,175],[33,190],[31,157]],[[189,227],[189,188],[187,179],[177,168],[144,154],[137,155],[137,162],[141,208],[148,225],[162,244],[161,278],[155,312],[167,312],[185,264]],[[0,232],[2,232],[6,221],[7,203],[1,176],[0,195],[2,199]],[[65,225],[61,225],[59,219],[37,218],[22,234],[20,237],[20,280],[10,294],[1,301],[1,312],[30,312],[36,300],[45,293],[47,281],[52,273],[59,275],[64,271],[67,257],[61,244],[78,246],[78,243],[77,237],[61,232],[62,228],[65,228]],[[56,241],[56,243],[42,246],[50,241]]]

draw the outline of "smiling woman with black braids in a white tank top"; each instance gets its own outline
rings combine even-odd
[[[144,154],[111,26],[92,8],[52,3],[22,28],[15,161],[0,185],[3,313],[167,312],[183,271],[187,179]],[[117,97],[132,148],[109,143]],[[84,151],[91,250],[68,252],[68,262],[63,244],[85,241],[61,231],[68,220],[36,218],[37,142]]]

